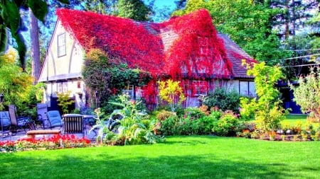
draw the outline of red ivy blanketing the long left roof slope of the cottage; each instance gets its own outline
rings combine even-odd
[[[151,74],[161,72],[164,59],[161,39],[141,23],[69,9],[58,9],[57,16],[85,50],[99,48],[127,62],[129,67],[139,67]]]

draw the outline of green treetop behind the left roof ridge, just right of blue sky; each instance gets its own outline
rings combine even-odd
[[[150,21],[152,9],[141,0],[119,0],[119,16],[136,21]]]

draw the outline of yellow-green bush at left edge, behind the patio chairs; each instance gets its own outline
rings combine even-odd
[[[33,86],[33,79],[16,66],[17,53],[8,50],[0,55],[0,92],[4,93],[4,105],[16,105],[18,115],[35,117],[33,106],[40,103],[43,84]]]

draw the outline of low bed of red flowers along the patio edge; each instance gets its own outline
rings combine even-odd
[[[37,149],[65,149],[90,146],[90,140],[85,137],[76,137],[74,134],[55,134],[53,137],[40,139],[18,139],[16,141],[0,142],[0,152],[14,152]]]

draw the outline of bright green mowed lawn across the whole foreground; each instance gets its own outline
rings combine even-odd
[[[320,142],[167,137],[165,143],[0,154],[0,178],[320,178]]]

